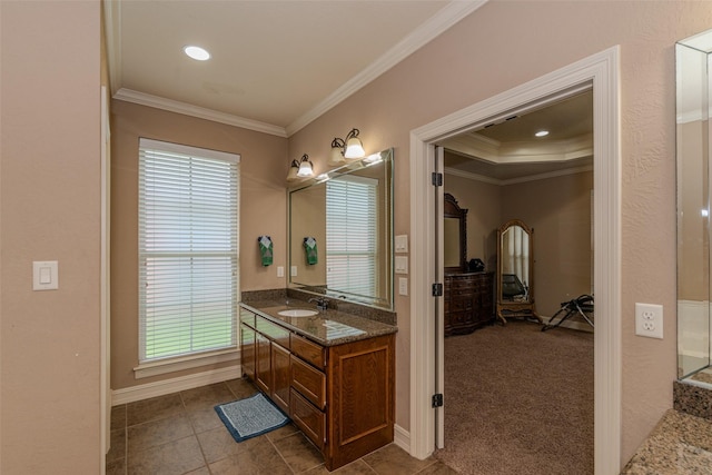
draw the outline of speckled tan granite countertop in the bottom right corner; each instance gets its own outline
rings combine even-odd
[[[712,420],[670,409],[621,474],[710,474],[711,467]]]

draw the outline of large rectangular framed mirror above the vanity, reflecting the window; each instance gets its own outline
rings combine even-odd
[[[393,310],[393,149],[289,190],[289,286]]]

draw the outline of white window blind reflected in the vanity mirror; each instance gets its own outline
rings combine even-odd
[[[326,281],[329,289],[373,296],[376,289],[378,180],[326,184]]]

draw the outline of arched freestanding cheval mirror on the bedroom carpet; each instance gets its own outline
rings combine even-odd
[[[535,318],[534,230],[518,219],[497,229],[497,318]]]

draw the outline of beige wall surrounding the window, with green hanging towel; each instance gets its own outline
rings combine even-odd
[[[240,290],[285,287],[287,140],[233,126],[115,100],[111,102],[111,388],[120,389],[210,368],[136,379],[138,365],[139,137],[240,155]],[[264,267],[257,237],[274,241]],[[236,374],[237,376],[237,374]]]

